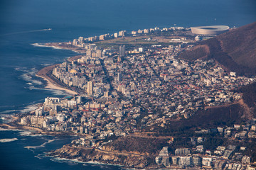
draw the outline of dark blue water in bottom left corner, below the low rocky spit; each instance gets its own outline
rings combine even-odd
[[[14,139],[14,141],[0,140],[0,169],[120,169],[119,166],[86,164],[74,160],[46,157],[44,154],[77,137],[30,136],[26,132],[23,133],[22,131],[1,131],[4,139]]]

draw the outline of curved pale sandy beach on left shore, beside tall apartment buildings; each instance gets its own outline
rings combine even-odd
[[[47,86],[46,89],[55,89],[55,90],[61,90],[61,91],[65,91],[68,94],[71,95],[75,95],[78,94],[76,91],[72,91],[70,89],[65,89],[63,86],[60,86],[59,84],[57,84],[53,79],[50,79],[50,77],[48,77],[48,73],[51,72],[53,70],[54,67],[57,67],[59,64],[54,64],[48,67],[44,67],[43,69],[41,69],[36,76],[37,77],[41,77],[42,79],[45,79],[47,81]]]

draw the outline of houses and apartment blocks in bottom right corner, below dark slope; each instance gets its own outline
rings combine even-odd
[[[218,127],[195,132],[215,134],[218,137],[228,138],[230,141],[242,141],[245,138],[255,138],[256,119],[253,118],[245,125],[235,124],[233,127]],[[246,135],[238,137],[237,134],[240,133]],[[206,137],[191,137],[192,148],[177,148],[173,154],[169,152],[168,147],[163,147],[155,159],[156,164],[174,169],[188,166],[198,166],[204,169],[255,169],[255,166],[251,166],[252,158],[245,154],[247,147],[243,145],[220,145],[210,150],[204,147],[205,140]]]

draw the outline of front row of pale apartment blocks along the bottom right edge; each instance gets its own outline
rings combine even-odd
[[[233,153],[235,149],[236,146],[229,145],[226,151]],[[186,167],[196,166],[203,169],[217,170],[254,170],[255,167],[251,166],[250,163],[251,158],[246,155],[240,155],[240,159],[234,161],[225,156],[220,157],[218,154],[191,154],[191,150],[188,148],[178,148],[175,150],[175,154],[171,154],[168,147],[163,147],[156,157],[156,164],[172,169],[184,169]]]

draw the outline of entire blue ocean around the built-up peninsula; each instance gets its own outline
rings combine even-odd
[[[33,43],[68,42],[80,36],[155,26],[240,27],[256,21],[255,9],[254,0],[1,1],[0,123],[11,114],[33,110],[47,96],[67,95],[45,89],[46,82],[36,77],[36,72],[77,53]],[[52,30],[45,30],[48,28]],[[24,134],[0,130],[0,169],[120,169],[44,157],[44,152],[60,148],[71,139]]]

